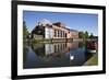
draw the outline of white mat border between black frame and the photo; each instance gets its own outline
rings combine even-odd
[[[102,70],[102,39],[98,39],[98,44],[99,44],[98,45],[98,49],[99,49],[98,50],[98,66],[23,69],[23,10],[69,12],[69,13],[74,13],[74,12],[75,13],[97,13],[98,14],[98,37],[102,38],[102,11],[101,10],[38,7],[38,5],[17,5],[17,75],[19,76]]]

